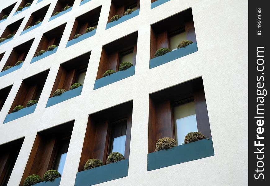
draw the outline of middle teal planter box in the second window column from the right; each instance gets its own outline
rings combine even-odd
[[[97,79],[95,81],[94,90],[109,85],[111,83],[120,81],[122,79],[128,78],[130,76],[133,76],[134,74],[135,74],[135,66],[132,66],[129,69],[118,71],[109,76]]]

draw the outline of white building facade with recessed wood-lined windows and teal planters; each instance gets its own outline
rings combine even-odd
[[[248,2],[0,0],[0,11],[0,185],[51,169],[61,177],[44,185],[248,184]],[[207,139],[184,144],[194,131]],[[164,137],[177,146],[156,152]],[[125,160],[106,164],[111,152]],[[84,170],[89,158],[104,166]]]

